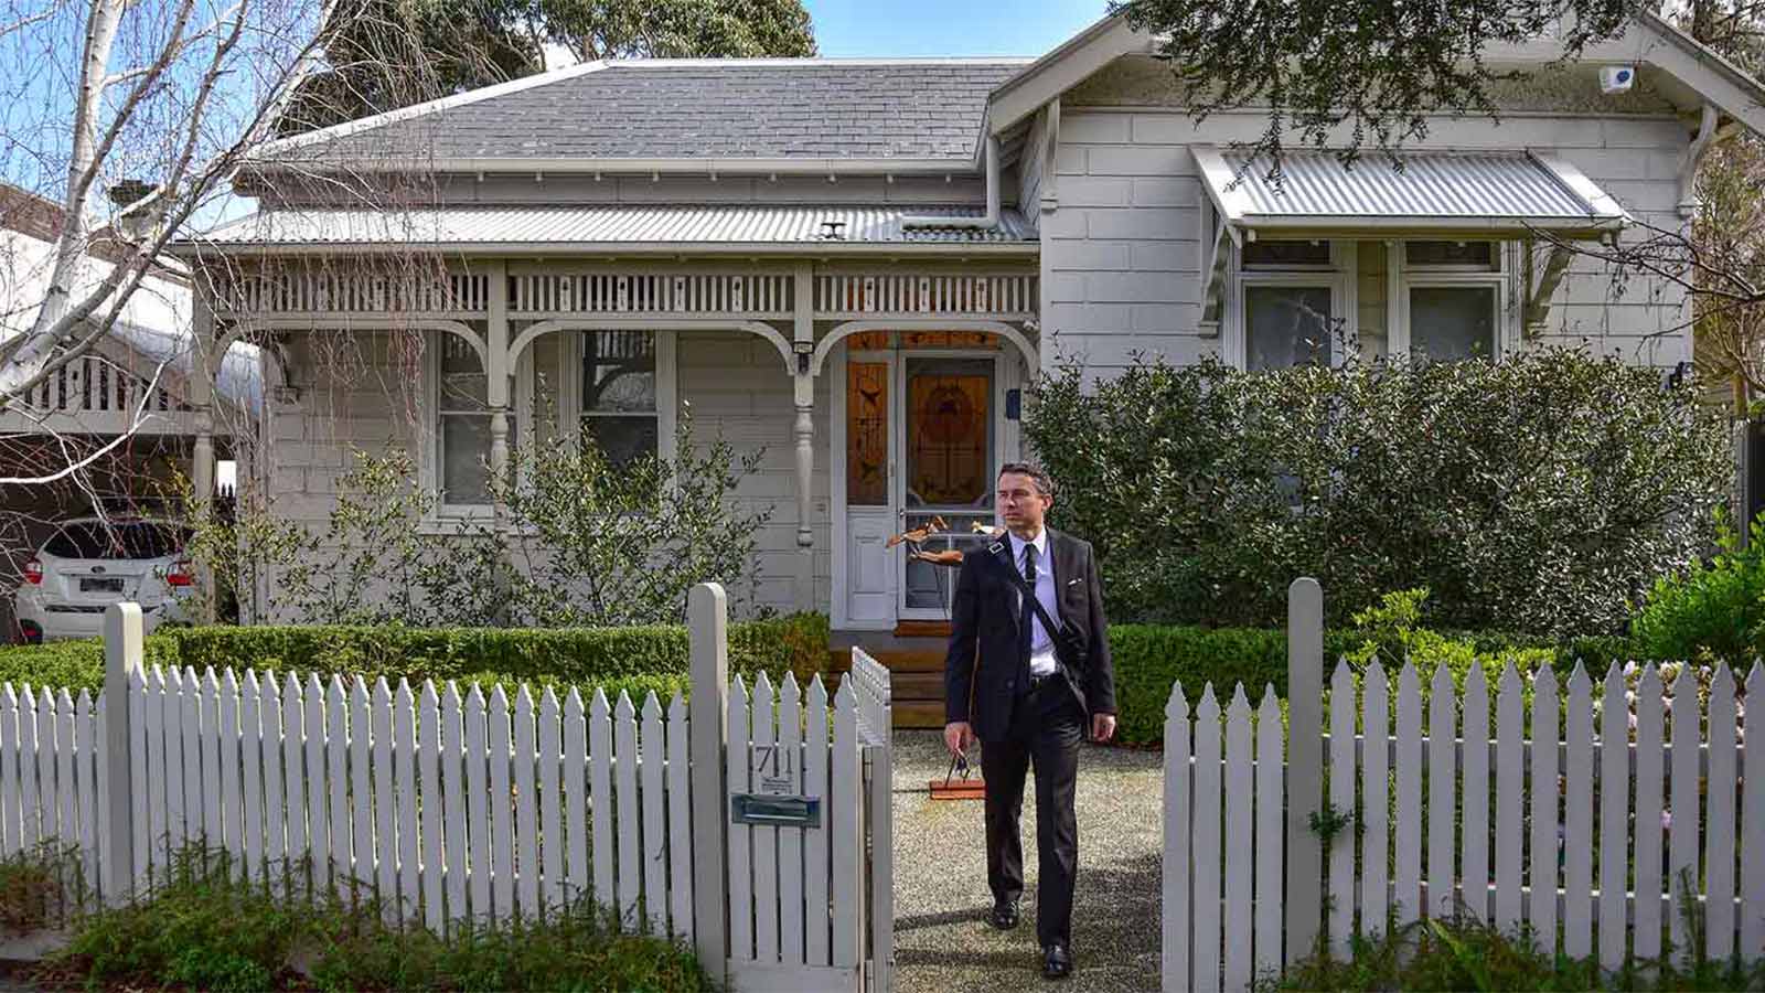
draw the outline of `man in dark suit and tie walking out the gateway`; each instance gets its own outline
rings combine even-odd
[[[987,885],[999,929],[1018,922],[1024,892],[1024,774],[1036,769],[1036,938],[1048,979],[1071,974],[1078,822],[1078,740],[1115,733],[1115,671],[1103,627],[1103,588],[1091,544],[1043,527],[1054,482],[1033,465],[999,472],[1006,535],[962,557],[944,657],[944,744],[981,742],[987,781]],[[1024,597],[1034,588],[1048,620]]]

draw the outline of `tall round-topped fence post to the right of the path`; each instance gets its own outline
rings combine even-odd
[[[1285,963],[1311,954],[1324,919],[1324,848],[1311,815],[1324,797],[1324,588],[1287,588],[1287,942]]]

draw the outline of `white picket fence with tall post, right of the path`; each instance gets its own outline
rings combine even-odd
[[[1581,666],[1558,687],[1550,668],[1509,664],[1491,733],[1481,668],[1458,700],[1440,666],[1424,731],[1414,664],[1396,673],[1396,714],[1377,661],[1359,700],[1341,661],[1324,693],[1322,590],[1297,580],[1288,597],[1285,735],[1273,687],[1253,717],[1239,684],[1223,730],[1213,684],[1193,709],[1181,684],[1170,693],[1165,989],[1248,989],[1318,935],[1347,956],[1350,935],[1447,915],[1530,924],[1544,951],[1604,968],[1668,947],[1765,956],[1765,749],[1747,758],[1726,668],[1707,707],[1691,666],[1670,686],[1643,668],[1633,716],[1619,666],[1596,698]],[[1765,668],[1744,689],[1765,700]]]

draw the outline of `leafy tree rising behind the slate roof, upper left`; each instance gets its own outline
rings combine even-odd
[[[342,0],[321,35],[327,69],[282,134],[355,120],[577,60],[815,55],[801,0]]]

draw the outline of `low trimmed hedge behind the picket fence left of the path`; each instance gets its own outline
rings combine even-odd
[[[344,673],[372,682],[385,677],[468,682],[597,686],[641,700],[655,689],[667,698],[687,689],[687,629],[657,627],[171,627],[146,640],[148,664],[203,671],[233,666],[265,671]],[[794,671],[807,682],[828,664],[828,618],[792,615],[729,625],[729,668]],[[65,686],[99,691],[104,684],[101,641],[58,641],[0,648],[0,680],[12,686]]]

